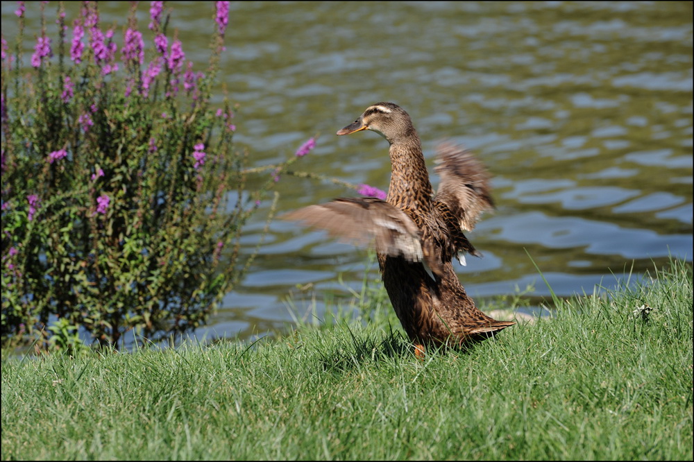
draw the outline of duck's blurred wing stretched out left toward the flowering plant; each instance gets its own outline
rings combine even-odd
[[[327,230],[341,241],[374,245],[378,253],[423,260],[417,225],[405,212],[376,198],[339,198],[289,212],[282,219]]]

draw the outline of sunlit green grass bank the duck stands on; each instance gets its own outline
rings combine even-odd
[[[3,355],[2,459],[691,460],[692,293],[675,261],[425,361],[392,317],[252,348]]]

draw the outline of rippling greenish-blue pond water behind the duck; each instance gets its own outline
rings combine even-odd
[[[125,23],[127,4],[100,5],[102,21]],[[213,6],[172,6],[187,58],[204,62]],[[8,33],[15,6],[2,8]],[[475,151],[498,208],[468,234],[484,258],[459,276],[475,298],[534,284],[539,300],[549,291],[527,254],[559,296],[615,286],[668,255],[691,262],[692,33],[684,2],[239,2],[220,78],[240,104],[237,146],[253,166],[320,134],[296,170],[387,189],[387,142],[335,136],[378,101],[409,112],[430,170],[443,139]],[[290,176],[277,187],[280,212],[356,195]],[[268,207],[246,229],[248,252]],[[320,316],[324,298],[349,298],[366,269],[377,277],[366,251],[273,221],[248,276],[198,334],[282,329],[288,297]]]

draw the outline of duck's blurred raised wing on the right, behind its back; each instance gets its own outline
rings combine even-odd
[[[441,177],[435,200],[448,207],[460,228],[472,230],[482,212],[494,208],[489,180],[491,175],[470,151],[452,144],[437,149],[437,166]]]

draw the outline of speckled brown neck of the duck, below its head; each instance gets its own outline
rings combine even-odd
[[[429,210],[433,190],[422,144],[414,130],[412,135],[391,143],[390,159],[393,171],[386,200],[401,209]]]

